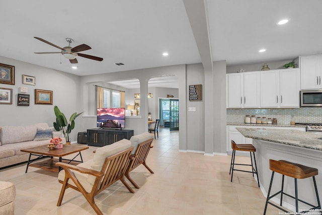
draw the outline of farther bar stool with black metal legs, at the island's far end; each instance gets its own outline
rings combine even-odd
[[[232,156],[231,156],[230,170],[229,170],[229,175],[231,172],[230,182],[232,182],[232,175],[233,175],[234,170],[241,171],[241,172],[250,172],[250,173],[253,173],[253,177],[254,177],[254,174],[257,175],[258,187],[260,187],[260,180],[258,179],[258,172],[257,172],[256,158],[255,158],[256,148],[252,144],[235,144],[235,142],[233,140],[231,140],[231,149],[232,149]],[[250,152],[252,164],[235,164],[236,151]],[[252,152],[253,152],[253,156],[254,156],[255,168],[253,166]],[[252,171],[234,169],[234,165],[252,166]]]

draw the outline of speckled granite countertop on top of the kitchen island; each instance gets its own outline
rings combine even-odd
[[[278,144],[322,151],[322,134],[293,129],[236,128],[241,134]]]

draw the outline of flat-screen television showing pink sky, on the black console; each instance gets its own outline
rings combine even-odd
[[[125,108],[98,108],[97,127],[125,128]]]

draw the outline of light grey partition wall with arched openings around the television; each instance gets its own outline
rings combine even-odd
[[[131,71],[120,71],[117,73],[107,73],[101,75],[91,75],[91,76],[83,76],[81,77],[81,86],[82,89],[82,103],[84,105],[84,110],[86,115],[93,115],[95,110],[94,101],[94,89],[92,87],[93,83],[98,81],[119,81],[119,80],[128,80],[128,79],[138,79],[140,81],[140,94],[147,95],[148,93],[148,80],[155,77],[161,77],[163,75],[166,76],[177,76],[179,83],[179,100],[180,107],[179,112],[180,116],[184,116],[180,118],[180,131],[179,131],[179,145],[183,150],[187,149],[187,141],[186,141],[186,131],[187,131],[187,123],[186,123],[186,66],[185,65],[173,65],[173,66],[163,66],[163,67],[155,67],[155,68],[146,68],[146,69],[137,69]],[[153,96],[154,97],[154,96]],[[130,124],[135,124],[135,127],[129,127],[128,129],[133,129],[134,133],[141,133],[147,131],[148,125],[147,121],[147,113],[148,113],[148,99],[147,97],[141,98],[141,108],[140,108],[140,119],[127,119]],[[136,120],[135,123],[131,121]],[[127,123],[126,123],[127,124]],[[95,127],[95,120],[90,122],[90,124],[86,125],[87,127]],[[87,129],[84,126],[84,129]]]

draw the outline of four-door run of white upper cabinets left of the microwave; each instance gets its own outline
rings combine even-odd
[[[297,108],[298,68],[227,74],[227,108]]]

